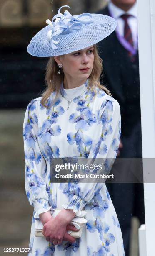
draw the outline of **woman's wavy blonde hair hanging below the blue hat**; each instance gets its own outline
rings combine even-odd
[[[88,86],[92,89],[96,95],[95,88],[99,88],[100,90],[104,90],[108,95],[111,95],[110,91],[107,88],[100,84],[100,75],[102,73],[102,59],[98,55],[97,46],[94,45],[94,63],[92,67],[92,72],[89,77],[89,84]],[[50,57],[47,67],[45,70],[45,82],[46,82],[46,89],[42,93],[42,100],[41,104],[47,108],[47,100],[50,97],[52,92],[56,92],[55,99],[57,98],[60,92],[60,86],[64,79],[64,73],[61,71],[58,74],[59,67],[53,57]]]

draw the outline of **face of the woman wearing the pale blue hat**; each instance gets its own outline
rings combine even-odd
[[[83,80],[87,79],[94,63],[93,46],[60,56],[62,69],[66,77]]]

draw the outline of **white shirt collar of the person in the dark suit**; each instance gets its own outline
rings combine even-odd
[[[127,12],[118,8],[111,1],[108,4],[108,8],[110,10],[110,13],[112,14],[112,17],[115,19],[118,19],[124,13],[128,13],[130,15],[133,15],[134,17],[137,17],[137,3],[135,3]]]

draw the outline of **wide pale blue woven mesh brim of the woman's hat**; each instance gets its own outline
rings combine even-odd
[[[96,44],[115,30],[117,21],[112,17],[101,14],[92,14],[92,16],[93,23],[78,31],[55,36],[54,40],[60,39],[60,43],[56,45],[58,47],[56,50],[52,49],[51,42],[47,40],[47,33],[51,27],[48,25],[42,28],[30,41],[27,49],[28,53],[38,57],[68,54]]]

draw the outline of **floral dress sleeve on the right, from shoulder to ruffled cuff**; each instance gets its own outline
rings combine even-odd
[[[93,136],[90,148],[89,159],[104,159],[108,162],[109,170],[117,156],[120,142],[120,106],[111,97],[104,100],[98,115],[98,123],[95,136]],[[108,169],[108,168],[107,168]],[[105,173],[107,174],[107,169]],[[104,183],[78,183],[71,186],[71,200],[62,205],[65,209],[73,209],[76,215],[81,214],[81,210],[99,192]]]

